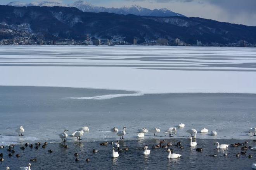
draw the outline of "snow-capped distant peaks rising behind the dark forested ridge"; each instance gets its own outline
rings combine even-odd
[[[172,16],[185,17],[182,14],[172,12],[166,8],[150,10],[148,8],[143,8],[137,5],[132,5],[131,7],[124,6],[121,8],[105,8],[105,7],[97,7],[86,1],[81,1],[81,0],[78,0],[71,4],[62,4],[58,2],[48,2],[48,1],[31,2],[31,3],[23,3],[23,2],[16,1],[16,2],[10,2],[7,5],[15,6],[15,7],[24,7],[24,6],[25,7],[29,7],[29,6],[76,7],[83,12],[108,12],[108,13],[123,14],[123,15],[133,14],[133,15],[139,15],[139,16],[155,16],[155,17],[172,17]]]

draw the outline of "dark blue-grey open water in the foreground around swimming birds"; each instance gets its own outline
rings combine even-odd
[[[168,159],[167,148],[152,149],[151,146],[159,144],[159,139],[151,140],[124,140],[120,141],[120,148],[128,148],[128,151],[119,151],[118,158],[111,158],[112,145],[100,146],[103,141],[97,142],[67,142],[51,143],[43,149],[41,146],[38,149],[27,147],[25,150],[21,150],[19,145],[14,147],[15,153],[13,156],[8,156],[9,151],[6,148],[0,149],[0,153],[3,153],[3,162],[0,162],[0,169],[4,169],[6,166],[14,170],[18,170],[19,167],[27,166],[31,163],[32,170],[106,170],[106,169],[191,169],[191,170],[251,170],[251,164],[255,163],[256,151],[247,150],[246,155],[236,156],[236,153],[240,153],[241,147],[228,149],[215,149],[213,146],[214,141],[218,141],[221,144],[231,143],[244,143],[244,140],[235,139],[197,139],[198,145],[190,147],[189,139],[165,139],[165,142],[171,142],[176,144],[181,141],[183,149],[177,146],[170,146],[173,149],[173,153],[181,154],[182,156],[177,159]],[[163,144],[163,145],[166,145]],[[67,145],[68,148],[64,148]],[[142,148],[148,145],[151,150],[150,155],[142,155]],[[256,142],[250,140],[248,146],[256,145]],[[24,146],[21,145],[21,146]],[[34,144],[35,146],[35,144]],[[202,152],[196,151],[196,148],[203,148]],[[48,153],[48,150],[52,150],[52,153]],[[93,153],[93,149],[97,149],[98,153]],[[78,162],[75,161],[74,153],[78,153]],[[227,156],[224,154],[227,153]],[[19,154],[20,157],[15,155]],[[216,154],[217,157],[212,155]],[[249,158],[249,155],[253,155]],[[30,159],[36,158],[36,162],[30,162]],[[89,158],[90,162],[86,162]]]

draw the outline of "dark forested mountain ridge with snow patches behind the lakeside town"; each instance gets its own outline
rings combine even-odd
[[[195,44],[227,44],[246,40],[256,43],[256,27],[218,22],[195,17],[151,17],[118,15],[107,12],[82,12],[74,7],[14,7],[0,5],[0,40],[16,36],[22,29],[41,34],[45,39],[85,40],[86,34],[101,39],[121,37],[137,42],[166,38]],[[2,33],[1,33],[2,31]]]

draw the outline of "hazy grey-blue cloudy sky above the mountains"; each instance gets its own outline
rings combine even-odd
[[[15,0],[0,0],[0,4],[6,5],[12,1]],[[28,3],[36,0],[18,1]],[[73,3],[75,0],[45,1]],[[87,2],[103,7],[122,7],[136,4],[150,9],[168,8],[188,17],[202,17],[256,26],[256,0],[87,0]]]

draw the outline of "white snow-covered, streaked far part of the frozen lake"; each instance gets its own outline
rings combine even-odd
[[[256,93],[256,48],[0,46],[0,85]]]

